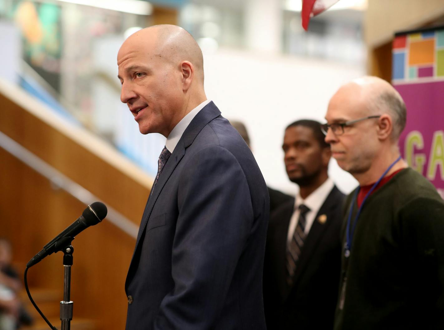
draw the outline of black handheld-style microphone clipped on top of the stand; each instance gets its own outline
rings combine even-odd
[[[67,229],[63,230],[52,241],[45,245],[38,254],[32,257],[32,259],[26,264],[26,267],[34,266],[37,262],[40,262],[40,260],[48,256],[49,254],[63,249],[67,245],[67,240],[63,238],[71,238],[71,240],[69,241],[71,243],[74,237],[78,233],[83,231],[83,229],[87,229],[89,226],[92,225],[97,225],[100,221],[102,221],[107,216],[107,212],[108,210],[105,204],[99,201],[88,205],[88,207],[82,212],[82,215],[77,220],[75,220]]]

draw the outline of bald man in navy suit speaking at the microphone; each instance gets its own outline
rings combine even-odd
[[[203,89],[192,36],[158,25],[117,56],[121,101],[167,137],[125,289],[127,330],[265,330],[269,197],[242,137]]]

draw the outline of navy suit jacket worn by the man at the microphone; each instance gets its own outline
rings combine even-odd
[[[269,208],[253,154],[210,102],[148,199],[125,285],[126,329],[266,329]]]

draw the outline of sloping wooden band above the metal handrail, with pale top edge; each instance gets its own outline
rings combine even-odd
[[[106,143],[97,141],[90,133],[83,129],[73,129],[72,125],[64,124],[63,121],[56,122],[58,127],[51,125],[51,122],[42,121],[35,113],[2,94],[1,88],[0,104],[1,132],[139,224],[151,189],[151,178],[141,170],[137,171],[134,165],[125,168],[125,164],[129,162],[119,159],[123,157],[117,151]],[[50,110],[45,111],[42,105],[40,107],[44,116],[52,115]],[[71,136],[67,135],[67,131]],[[88,145],[91,145],[91,149]],[[123,163],[121,168],[110,164],[98,154],[103,150],[113,154],[110,157],[114,157],[116,163]],[[139,177],[134,175],[135,172]]]

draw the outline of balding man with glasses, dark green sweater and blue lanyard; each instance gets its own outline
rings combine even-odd
[[[363,77],[329,102],[325,141],[359,186],[346,199],[335,330],[444,329],[444,201],[401,159],[405,104]]]

